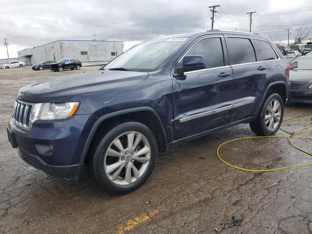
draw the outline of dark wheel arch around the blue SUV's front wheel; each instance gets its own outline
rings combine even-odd
[[[139,115],[137,115],[137,117],[129,118],[129,114],[135,114],[135,113],[137,114],[144,113],[145,115],[142,116],[143,118],[140,117]],[[149,116],[146,116],[146,114]],[[148,117],[151,117],[151,119]],[[118,121],[114,121],[117,119]],[[90,148],[92,147],[92,143],[95,142],[96,135],[100,133],[102,129],[107,127],[106,125],[107,123],[111,123],[112,125],[110,126],[114,127],[114,125],[120,124],[122,122],[137,121],[137,120],[138,122],[141,122],[147,125],[152,130],[153,134],[155,134],[159,151],[165,151],[167,144],[168,144],[167,135],[166,135],[166,132],[165,132],[165,129],[163,127],[160,117],[158,116],[156,111],[151,107],[137,107],[137,108],[126,109],[126,110],[109,113],[105,116],[99,117],[96,123],[93,125],[90,131],[90,134],[86,140],[82,154],[80,156],[79,163],[85,162],[88,152]],[[151,122],[149,121],[155,121],[155,120],[157,124],[150,124]]]

